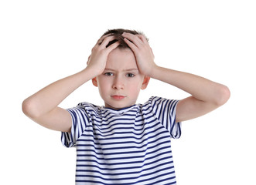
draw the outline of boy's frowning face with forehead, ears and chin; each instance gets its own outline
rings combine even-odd
[[[109,55],[104,72],[93,79],[106,107],[121,109],[136,103],[140,89],[148,85],[149,77],[137,67],[131,49],[114,49]]]

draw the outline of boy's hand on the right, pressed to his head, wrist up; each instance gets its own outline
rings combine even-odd
[[[138,70],[145,76],[150,76],[155,68],[154,54],[144,35],[133,35],[124,32],[125,42],[135,54]]]

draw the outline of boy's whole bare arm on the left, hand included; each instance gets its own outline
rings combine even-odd
[[[115,42],[106,48],[108,42],[113,39],[113,36],[105,35],[98,40],[92,49],[86,69],[53,82],[25,99],[22,103],[23,113],[46,128],[70,132],[72,125],[70,113],[58,105],[79,86],[104,71],[108,54],[119,45]]]

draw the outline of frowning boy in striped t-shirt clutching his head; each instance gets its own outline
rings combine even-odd
[[[191,94],[180,101],[151,97],[135,104],[150,78]],[[92,79],[104,106],[58,107]],[[227,102],[226,86],[186,72],[159,67],[141,33],[114,29],[92,49],[86,69],[53,82],[22,103],[36,123],[62,131],[65,146],[77,147],[76,184],[176,184],[170,138],[182,121]]]

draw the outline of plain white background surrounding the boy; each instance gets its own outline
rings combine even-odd
[[[204,76],[230,88],[216,111],[183,123],[172,140],[179,185],[256,184],[254,1],[1,1],[0,184],[74,184],[75,149],[22,113],[22,101],[84,69],[107,29],[145,32],[159,66]],[[151,80],[150,96],[188,94]],[[87,82],[61,103],[102,105]]]

